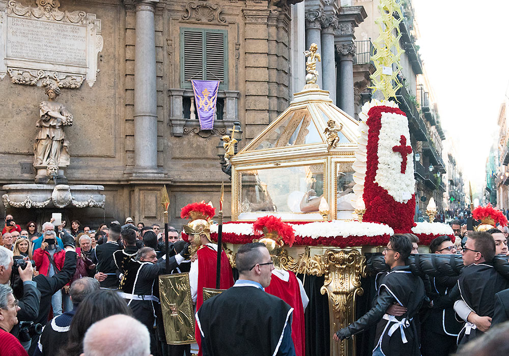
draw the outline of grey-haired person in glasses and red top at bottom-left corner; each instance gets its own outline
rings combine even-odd
[[[19,341],[9,332],[18,323],[18,302],[14,298],[12,288],[0,284],[0,355],[25,356],[26,351]]]

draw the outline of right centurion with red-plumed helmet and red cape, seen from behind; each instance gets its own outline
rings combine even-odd
[[[294,309],[292,314],[292,340],[296,356],[304,356],[306,353],[304,309],[307,307],[309,299],[302,282],[295,276],[295,273],[282,269],[280,258],[282,247],[285,244],[291,247],[295,241],[294,230],[290,225],[282,222],[280,218],[269,215],[254,222],[253,231],[263,233],[264,236],[259,242],[265,244],[274,263],[272,279],[265,291],[284,300]]]

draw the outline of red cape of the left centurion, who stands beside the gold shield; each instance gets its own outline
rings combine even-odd
[[[203,288],[216,287],[216,264],[217,264],[217,251],[204,246],[196,252],[198,257],[198,289],[196,295],[196,312],[203,304]],[[220,289],[228,289],[233,286],[233,272],[230,266],[230,261],[224,251],[221,252],[221,277],[219,281]],[[200,347],[199,355],[202,354],[201,349],[201,335],[198,325],[195,325],[195,338],[198,346]]]

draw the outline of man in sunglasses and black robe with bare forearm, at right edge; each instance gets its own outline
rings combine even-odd
[[[494,313],[495,293],[507,289],[509,281],[503,278],[491,263],[495,256],[495,241],[488,232],[471,232],[462,250],[463,269],[458,287],[461,299],[454,309],[467,320],[458,336],[458,345],[488,331]],[[463,301],[465,308],[461,308]]]

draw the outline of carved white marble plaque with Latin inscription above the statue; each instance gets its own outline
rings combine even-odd
[[[101,20],[84,11],[60,9],[60,1],[25,6],[0,0],[0,79],[21,85],[94,85],[102,51]]]

